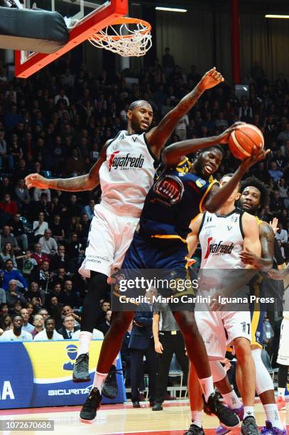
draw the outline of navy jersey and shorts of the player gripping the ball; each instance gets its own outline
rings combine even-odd
[[[185,159],[178,166],[165,168],[153,183],[123,270],[178,269],[178,277],[185,279],[190,222],[204,211],[205,198],[217,183],[190,172],[190,167]]]

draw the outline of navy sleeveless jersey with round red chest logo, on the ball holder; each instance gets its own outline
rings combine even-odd
[[[190,172],[188,159],[166,167],[148,191],[138,232],[147,237],[179,238],[184,242],[190,222],[204,211],[203,204],[214,179]]]

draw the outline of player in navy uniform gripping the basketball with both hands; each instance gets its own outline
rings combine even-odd
[[[186,238],[191,220],[203,210],[216,211],[229,198],[249,167],[266,156],[264,151],[255,148],[253,155],[241,162],[229,182],[219,188],[217,181],[211,179],[223,158],[219,144],[227,144],[231,131],[238,128],[239,124],[234,124],[219,136],[182,141],[164,149],[165,169],[148,192],[138,229],[126,252],[123,269],[170,269],[177,270],[178,277],[182,279],[186,276]],[[185,156],[200,150],[195,162],[190,164]],[[217,415],[224,426],[234,427],[239,424],[238,417],[224,407],[214,394],[207,353],[197,330],[194,313],[184,306],[178,308],[180,311],[172,309],[173,315],[200,380],[205,410]],[[98,385],[92,389],[80,412],[84,421],[91,421],[96,416],[102,400],[102,373],[108,371],[116,358],[133,315],[133,311],[114,314],[99,355],[96,372]]]

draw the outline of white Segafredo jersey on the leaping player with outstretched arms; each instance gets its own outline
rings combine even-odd
[[[139,217],[153,184],[155,161],[145,133],[119,131],[107,147],[107,160],[99,169],[102,205],[116,214]]]

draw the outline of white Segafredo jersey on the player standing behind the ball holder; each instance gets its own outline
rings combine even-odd
[[[205,212],[199,232],[202,247],[201,269],[239,269],[244,264],[239,254],[244,245],[242,210],[221,216]]]

